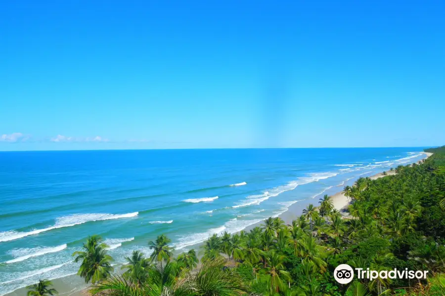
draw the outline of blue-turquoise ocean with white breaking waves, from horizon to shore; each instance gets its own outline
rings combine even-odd
[[[148,256],[162,233],[187,251],[299,201],[317,205],[359,177],[424,158],[422,150],[0,152],[0,295],[75,274],[71,254],[89,235],[105,239],[116,264],[133,250]]]

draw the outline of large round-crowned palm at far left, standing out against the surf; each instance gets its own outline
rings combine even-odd
[[[72,256],[76,256],[74,262],[82,260],[82,264],[77,272],[78,275],[85,278],[85,282],[91,281],[93,284],[106,279],[113,267],[111,262],[113,258],[107,254],[108,246],[98,235],[89,236],[87,243],[84,243],[84,251],[76,251]]]

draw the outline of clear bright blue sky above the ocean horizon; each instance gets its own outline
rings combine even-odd
[[[0,150],[445,144],[444,1],[156,2],[3,2]]]

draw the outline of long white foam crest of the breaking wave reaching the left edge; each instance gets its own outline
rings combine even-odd
[[[71,227],[74,225],[83,224],[86,222],[94,222],[94,221],[103,221],[103,220],[112,220],[112,219],[121,219],[121,218],[132,218],[136,217],[139,213],[128,213],[128,214],[74,214],[70,216],[56,218],[56,223],[53,226],[43,228],[43,229],[35,229],[26,232],[18,232],[18,231],[4,231],[0,232],[0,242],[7,242],[15,239],[19,239],[28,235],[39,234],[48,230],[63,228],[63,227]]]

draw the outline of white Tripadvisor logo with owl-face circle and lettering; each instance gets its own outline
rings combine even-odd
[[[357,279],[368,279],[370,281],[376,278],[381,279],[426,279],[427,270],[408,270],[408,268],[398,270],[369,270],[369,268],[355,268]],[[354,279],[354,269],[348,264],[340,264],[334,270],[334,278],[340,284],[348,284]]]

